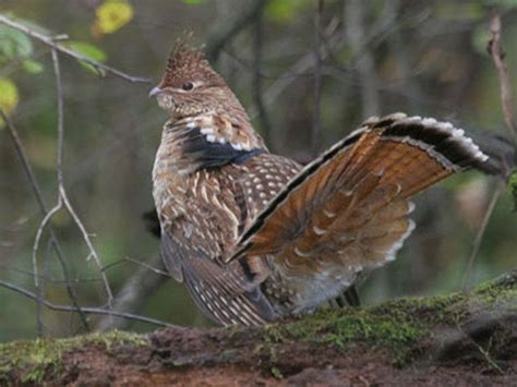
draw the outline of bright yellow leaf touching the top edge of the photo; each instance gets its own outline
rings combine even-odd
[[[133,19],[133,7],[124,0],[108,0],[95,11],[94,31],[112,34]]]

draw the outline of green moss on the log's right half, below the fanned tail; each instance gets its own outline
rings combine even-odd
[[[404,364],[437,325],[459,326],[472,313],[517,305],[516,275],[481,285],[470,293],[406,298],[366,309],[324,309],[264,329],[266,343],[302,340],[346,349],[357,342],[387,349]]]

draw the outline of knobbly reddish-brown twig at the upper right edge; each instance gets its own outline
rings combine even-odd
[[[486,47],[489,53],[492,56],[495,69],[500,77],[501,85],[501,104],[503,107],[504,120],[506,128],[514,138],[514,143],[517,144],[517,130],[514,123],[514,102],[512,96],[512,83],[509,81],[508,71],[504,61],[504,50],[501,45],[501,17],[498,14],[494,14],[490,21],[490,33],[492,35],[489,45]]]

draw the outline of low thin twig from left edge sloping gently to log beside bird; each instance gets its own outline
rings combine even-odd
[[[23,294],[29,299],[33,299],[33,300],[38,300],[38,295],[26,290],[26,289],[23,289],[21,287],[17,287],[13,283],[10,283],[10,282],[7,282],[7,281],[3,281],[3,280],[0,280],[0,287],[3,287],[3,288],[7,288],[7,289],[10,289],[10,290],[13,290],[20,294]],[[69,306],[69,305],[56,305],[47,300],[43,300],[41,301],[41,304],[46,307],[48,307],[49,310],[51,311],[58,311],[58,312],[76,312],[76,307],[75,306]],[[145,317],[145,316],[140,316],[137,314],[132,314],[132,313],[123,313],[123,312],[116,312],[116,311],[110,311],[110,310],[105,310],[105,309],[101,309],[101,307],[87,307],[87,306],[83,306],[81,307],[81,310],[84,312],[84,313],[88,313],[88,314],[103,314],[103,315],[110,315],[110,316],[116,316],[116,317],[123,317],[123,318],[128,318],[128,319],[133,319],[133,321],[137,321],[137,322],[143,322],[143,323],[147,323],[147,324],[154,324],[154,325],[157,325],[157,326],[161,326],[161,327],[167,327],[167,328],[173,328],[173,329],[185,329],[183,327],[180,327],[178,325],[173,325],[173,324],[168,324],[168,323],[165,323],[165,322],[161,322],[159,319],[155,319],[155,318],[151,318],[151,317]]]

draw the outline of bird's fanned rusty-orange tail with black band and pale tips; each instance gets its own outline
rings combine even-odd
[[[274,257],[288,275],[393,259],[412,230],[408,199],[486,156],[464,131],[396,113],[366,121],[309,164],[248,227],[226,262]]]

